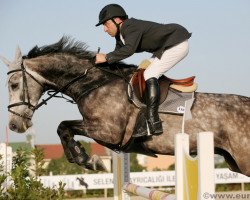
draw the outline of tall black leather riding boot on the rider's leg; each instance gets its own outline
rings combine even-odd
[[[159,103],[160,86],[158,80],[157,78],[150,78],[146,80],[146,104],[147,120],[152,135],[160,135],[163,133],[162,122],[158,114]]]

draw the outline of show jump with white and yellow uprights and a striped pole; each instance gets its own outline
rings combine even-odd
[[[189,154],[189,135],[175,136],[176,192],[175,196],[129,183],[129,154],[113,155],[114,199],[128,200],[126,192],[152,200],[202,200],[203,195],[215,193],[214,140],[212,132],[197,134],[197,156]]]

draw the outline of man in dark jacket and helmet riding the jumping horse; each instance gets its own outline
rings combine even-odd
[[[158,79],[188,54],[188,39],[191,37],[179,24],[159,24],[135,18],[128,18],[125,10],[118,4],[105,6],[99,14],[96,26],[103,25],[104,31],[116,39],[115,50],[98,53],[96,64],[115,63],[136,52],[152,53],[150,65],[144,72],[146,81],[147,121],[150,133],[163,133],[158,107],[160,88]]]

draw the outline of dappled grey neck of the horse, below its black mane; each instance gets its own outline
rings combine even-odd
[[[29,63],[29,64],[28,64]],[[44,79],[46,89],[59,90],[76,77],[87,73],[80,80],[72,83],[64,93],[74,100],[88,94],[93,89],[116,79],[93,67],[88,60],[80,60],[70,56],[41,56],[27,61],[29,68]]]

